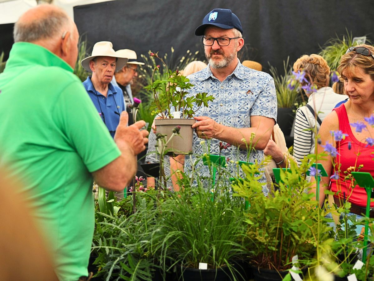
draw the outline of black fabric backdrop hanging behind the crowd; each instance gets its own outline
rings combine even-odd
[[[346,34],[346,28],[374,40],[370,0],[117,0],[76,6],[74,20],[92,43],[111,41],[115,50],[134,49],[138,56],[148,50],[170,55],[173,46],[176,59],[188,49],[203,51],[194,30],[214,8],[231,9],[239,17],[250,44],[244,59],[259,61],[265,71],[268,61],[281,71],[288,55],[293,63],[300,55],[317,53],[319,45]]]

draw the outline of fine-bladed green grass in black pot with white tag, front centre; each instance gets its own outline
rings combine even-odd
[[[246,253],[245,203],[230,196],[229,185],[224,185],[228,179],[222,173],[221,184],[215,187],[221,190],[213,194],[204,188],[206,179],[194,171],[193,176],[180,180],[183,188],[159,206],[164,238],[158,256],[170,261],[165,271],[174,271],[177,280],[250,279],[246,279],[248,268],[241,261]]]

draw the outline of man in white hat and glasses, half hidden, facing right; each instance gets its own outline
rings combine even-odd
[[[134,84],[134,79],[138,77],[138,65],[144,65],[137,61],[137,53],[133,50],[123,49],[116,51],[120,57],[128,58],[127,64],[121,69],[114,72],[112,84],[121,88],[123,92],[123,99],[125,101],[125,108],[129,112],[128,105],[133,104],[131,85]],[[129,124],[132,124],[132,115],[129,112]]]

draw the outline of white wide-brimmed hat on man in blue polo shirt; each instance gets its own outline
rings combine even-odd
[[[80,64],[82,64],[83,68],[86,69],[88,72],[92,72],[90,69],[90,61],[93,60],[95,57],[113,57],[117,58],[116,61],[116,71],[120,70],[124,67],[128,61],[127,57],[117,54],[113,50],[112,42],[108,41],[101,41],[97,42],[93,45],[92,48],[92,55],[89,57],[84,58]]]

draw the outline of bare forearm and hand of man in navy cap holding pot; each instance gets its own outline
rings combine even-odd
[[[264,116],[251,116],[250,128],[233,128],[218,124],[209,117],[194,117],[198,122],[192,125],[199,138],[219,139],[231,143],[239,148],[246,149],[251,140],[252,133],[255,134],[252,140],[252,147],[257,150],[264,150],[272,134],[275,120]],[[245,142],[242,141],[245,139]]]

